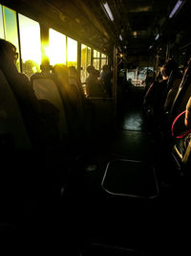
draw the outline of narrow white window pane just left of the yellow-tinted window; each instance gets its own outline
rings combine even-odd
[[[68,66],[77,66],[77,41],[67,37],[67,63]]]

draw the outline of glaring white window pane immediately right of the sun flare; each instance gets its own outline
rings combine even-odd
[[[66,64],[66,35],[50,29],[48,52],[51,65],[56,63]]]

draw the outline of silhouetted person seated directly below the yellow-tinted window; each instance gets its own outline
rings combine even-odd
[[[105,93],[101,86],[100,81],[95,76],[95,67],[88,66],[87,72],[89,73],[89,77],[86,79],[86,92],[88,97],[104,97]]]

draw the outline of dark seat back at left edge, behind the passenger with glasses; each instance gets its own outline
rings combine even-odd
[[[6,147],[6,144],[11,142],[15,150],[32,148],[19,105],[2,70],[0,70],[0,135],[1,147]]]

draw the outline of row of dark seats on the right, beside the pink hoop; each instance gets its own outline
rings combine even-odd
[[[165,153],[170,153],[170,159],[173,156],[173,162],[176,163],[175,166],[181,174],[188,170],[190,166],[190,156],[186,157],[186,163],[184,158],[185,147],[189,148],[190,146],[189,143],[185,146],[185,136],[177,137],[189,130],[184,125],[184,111],[190,97],[191,64],[189,63],[182,76],[178,74],[178,71],[173,70],[168,78],[167,86],[163,93],[163,102],[160,106],[161,115],[158,117],[158,132],[155,135],[161,141],[161,155],[164,156]],[[190,151],[188,148],[187,154],[190,154],[188,153]]]

